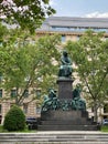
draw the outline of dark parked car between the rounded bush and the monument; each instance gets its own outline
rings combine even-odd
[[[26,125],[29,130],[36,130],[37,128],[37,119],[36,117],[26,117]]]

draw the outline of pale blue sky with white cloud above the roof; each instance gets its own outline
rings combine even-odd
[[[51,0],[57,17],[108,18],[108,0]]]

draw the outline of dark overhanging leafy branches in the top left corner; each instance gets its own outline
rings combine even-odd
[[[1,0],[0,19],[8,23],[15,23],[22,29],[34,31],[43,20],[55,13],[50,0]]]

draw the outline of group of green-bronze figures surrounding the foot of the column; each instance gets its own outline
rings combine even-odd
[[[44,96],[42,112],[58,109],[62,109],[63,111],[68,111],[71,109],[86,111],[86,102],[80,97],[80,86],[79,84],[77,84],[73,91],[73,99],[71,100],[71,102],[68,102],[67,100],[61,102],[61,100],[58,100],[56,96],[56,91],[54,91],[53,89],[48,89],[48,95]]]

